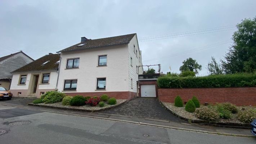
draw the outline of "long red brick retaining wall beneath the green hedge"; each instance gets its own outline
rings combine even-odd
[[[158,98],[163,102],[174,103],[177,95],[183,102],[195,95],[201,104],[230,102],[239,106],[256,106],[256,87],[158,89]]]

